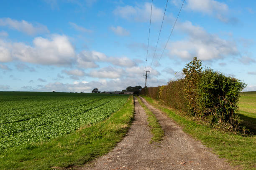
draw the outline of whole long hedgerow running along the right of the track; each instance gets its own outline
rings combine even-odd
[[[184,78],[164,86],[144,87],[141,93],[214,127],[239,130],[238,100],[246,84],[210,68],[202,70],[201,66],[201,60],[195,57],[182,70]]]

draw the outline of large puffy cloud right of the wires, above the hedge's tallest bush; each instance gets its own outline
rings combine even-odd
[[[186,33],[184,40],[171,42],[168,46],[170,55],[185,60],[198,57],[200,60],[213,60],[227,55],[237,55],[236,43],[221,39],[218,35],[207,33],[202,27],[191,22],[177,24],[177,29]]]

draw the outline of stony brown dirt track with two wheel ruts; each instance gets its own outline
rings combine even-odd
[[[125,138],[107,155],[79,170],[231,170],[218,158],[182,131],[175,122],[141,100],[156,115],[164,130],[161,143],[151,140],[147,115],[135,98],[135,120]]]

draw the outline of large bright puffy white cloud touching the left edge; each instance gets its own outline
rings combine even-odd
[[[70,65],[74,62],[74,47],[65,35],[51,35],[50,39],[36,37],[33,47],[23,42],[0,40],[0,61],[14,59],[44,65]]]

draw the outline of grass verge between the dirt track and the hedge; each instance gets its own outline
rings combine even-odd
[[[176,110],[161,106],[148,96],[142,97],[181,125],[186,133],[212,148],[214,153],[220,155],[220,158],[226,158],[231,165],[240,167],[238,169],[256,170],[256,135],[241,136],[211,129],[192,120],[187,120]]]

